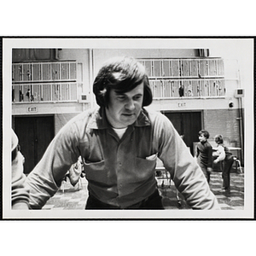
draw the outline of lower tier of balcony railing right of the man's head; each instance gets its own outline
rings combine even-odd
[[[225,95],[224,79],[149,79],[153,97],[220,97]]]

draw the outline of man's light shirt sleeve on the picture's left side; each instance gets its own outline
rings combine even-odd
[[[78,137],[73,123],[65,125],[46,149],[43,158],[26,178],[29,205],[41,209],[59,189],[61,180],[79,158]]]

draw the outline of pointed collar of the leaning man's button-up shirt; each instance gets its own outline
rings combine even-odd
[[[133,125],[138,127],[151,125],[148,119],[148,112],[144,108]],[[105,108],[97,108],[96,111],[91,113],[87,127],[96,130],[108,129],[110,127]]]

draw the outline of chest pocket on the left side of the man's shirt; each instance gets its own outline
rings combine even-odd
[[[105,160],[99,162],[84,162],[84,172],[89,181],[107,182]]]

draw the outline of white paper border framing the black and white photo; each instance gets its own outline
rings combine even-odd
[[[245,88],[245,190],[243,210],[11,210],[11,67],[14,48],[67,49],[206,49],[218,40],[236,43],[242,41],[247,60]],[[254,81],[253,38],[3,38],[3,219],[252,219],[254,218]],[[247,172],[247,170],[249,170]]]

